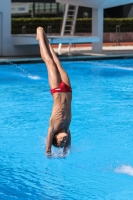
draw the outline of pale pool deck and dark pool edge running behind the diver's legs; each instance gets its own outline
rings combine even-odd
[[[115,59],[115,58],[133,58],[133,46],[103,46],[101,53],[92,53],[91,47],[72,47],[62,48],[61,54],[54,48],[60,60],[95,60],[95,59]],[[40,55],[28,57],[0,57],[0,64],[8,62],[40,62]]]

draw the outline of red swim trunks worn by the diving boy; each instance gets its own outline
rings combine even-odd
[[[54,88],[50,91],[51,91],[51,94],[54,94],[56,92],[72,92],[72,88],[66,85],[64,82],[61,82],[57,88]]]

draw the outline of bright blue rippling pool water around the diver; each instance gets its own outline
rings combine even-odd
[[[133,60],[62,65],[73,88],[72,148],[51,159],[45,64],[0,66],[0,200],[132,200]]]

